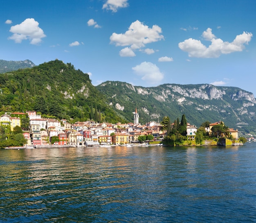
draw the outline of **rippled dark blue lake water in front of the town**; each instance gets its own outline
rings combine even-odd
[[[256,143],[1,149],[0,222],[256,222]]]

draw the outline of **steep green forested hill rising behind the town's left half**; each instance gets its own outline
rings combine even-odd
[[[60,60],[0,74],[0,114],[27,110],[74,121],[127,121],[106,103],[88,74]]]

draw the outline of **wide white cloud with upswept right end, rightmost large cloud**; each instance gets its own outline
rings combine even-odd
[[[252,33],[243,32],[236,36],[233,42],[223,42],[220,38],[216,38],[210,28],[204,31],[202,36],[211,41],[209,47],[203,45],[200,40],[189,38],[179,43],[180,49],[188,52],[189,57],[218,58],[221,54],[243,51],[244,45],[251,41]]]

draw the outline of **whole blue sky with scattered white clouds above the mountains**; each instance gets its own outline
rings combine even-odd
[[[4,1],[0,59],[71,62],[118,80],[240,87],[256,96],[255,0]]]

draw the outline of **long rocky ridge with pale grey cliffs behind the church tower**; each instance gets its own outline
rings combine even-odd
[[[141,123],[171,121],[186,115],[186,120],[198,127],[205,121],[222,120],[230,128],[252,132],[256,126],[256,99],[238,87],[217,87],[209,84],[164,84],[139,87],[118,81],[106,81],[97,86],[107,96],[109,105],[128,120],[137,107]]]

